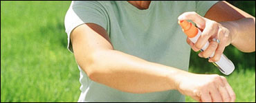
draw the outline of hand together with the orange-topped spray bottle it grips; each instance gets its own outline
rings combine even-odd
[[[200,25],[199,25],[199,28],[197,28],[194,25],[192,25],[192,23],[185,21],[184,18],[186,17],[188,19],[191,19],[192,21],[196,21],[198,23],[204,23],[203,25],[201,25],[201,29],[203,30],[203,32],[199,30]],[[210,24],[208,24],[206,21],[208,21],[208,23]],[[199,56],[204,54],[203,56],[205,58],[209,58],[209,62],[212,62],[213,61],[212,59],[215,58],[213,61],[214,65],[216,65],[219,68],[219,70],[226,75],[229,75],[230,73],[232,73],[232,71],[234,71],[235,65],[224,54],[222,54],[224,48],[226,47],[226,46],[223,46],[225,42],[224,43],[221,42],[222,45],[220,46],[221,43],[219,41],[219,37],[223,35],[228,37],[229,35],[228,29],[219,25],[215,21],[210,21],[209,19],[205,19],[199,16],[199,14],[196,14],[195,12],[185,12],[181,14],[181,16],[179,16],[179,25],[181,25],[183,32],[188,36],[187,42],[192,46],[192,49],[194,49],[194,51],[196,52],[198,51],[198,49],[201,49],[201,53],[199,54]],[[220,28],[223,28],[223,29],[220,29]],[[211,35],[209,34],[209,30],[213,32]],[[212,40],[210,41],[210,43],[208,41],[209,39]],[[222,37],[221,40],[225,41],[226,38]],[[227,43],[227,40],[226,40],[226,43]],[[228,45],[230,43],[228,43]],[[200,47],[197,48],[196,44],[199,45]]]

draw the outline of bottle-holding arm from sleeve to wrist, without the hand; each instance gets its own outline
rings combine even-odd
[[[230,30],[231,44],[242,52],[255,52],[255,17],[226,1],[219,1],[205,14]]]

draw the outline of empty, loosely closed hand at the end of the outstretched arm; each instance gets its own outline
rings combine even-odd
[[[177,89],[198,102],[235,102],[235,93],[223,76],[190,73],[181,77]]]

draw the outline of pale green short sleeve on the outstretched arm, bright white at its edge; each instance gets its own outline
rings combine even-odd
[[[65,16],[65,29],[68,35],[68,50],[73,52],[70,35],[75,27],[84,23],[95,23],[107,30],[107,16],[104,5],[98,1],[72,1]]]

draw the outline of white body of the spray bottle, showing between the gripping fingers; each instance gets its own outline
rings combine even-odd
[[[196,43],[199,36],[201,36],[200,30],[198,30],[198,33],[196,34],[196,36],[194,36],[193,38],[190,38],[190,41],[192,41],[193,43]],[[205,50],[208,46],[209,46],[209,42],[206,42],[202,50]],[[214,53],[210,57],[212,56],[214,56]],[[233,64],[233,62],[229,60],[224,54],[221,54],[220,60],[217,62],[214,62],[214,65],[216,65],[221,71],[221,73],[225,75],[229,75],[235,69],[235,65]]]

